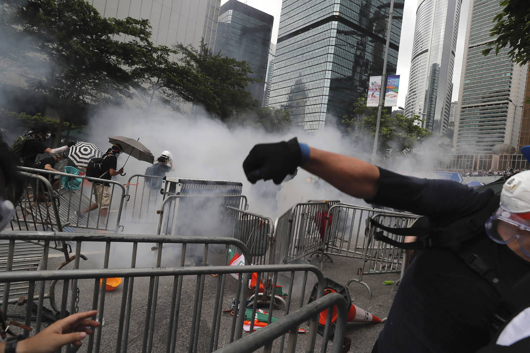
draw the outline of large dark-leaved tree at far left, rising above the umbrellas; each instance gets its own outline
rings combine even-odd
[[[48,75],[32,86],[56,103],[56,142],[79,105],[131,96],[136,84],[130,69],[149,56],[152,46],[147,20],[103,18],[84,0],[27,0],[16,11],[11,25],[36,40],[49,66]]]

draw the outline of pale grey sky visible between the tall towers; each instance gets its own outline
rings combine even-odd
[[[228,0],[221,0],[221,5]],[[240,0],[241,1],[241,0]],[[272,28],[272,42],[276,43],[278,37],[278,24],[280,22],[281,0],[243,0],[243,3],[257,8],[263,12],[274,16],[274,25]],[[398,56],[398,75],[400,79],[400,92],[398,95],[398,106],[405,105],[405,95],[409,84],[410,59],[412,53],[412,39],[414,35],[414,25],[416,24],[416,9],[419,1],[405,0],[403,12],[403,24],[401,26],[400,51]],[[460,25],[458,26],[458,39],[456,42],[455,67],[453,70],[453,97],[452,101],[458,99],[458,88],[460,85],[460,73],[462,70],[462,57],[464,53],[464,41],[467,24],[467,14],[469,13],[469,1],[462,1],[460,13]]]

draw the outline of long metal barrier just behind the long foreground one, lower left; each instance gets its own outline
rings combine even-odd
[[[208,261],[217,262],[220,265],[227,265],[229,256],[228,248],[236,248],[250,259],[250,253],[246,246],[239,240],[233,238],[223,237],[156,237],[156,236],[136,236],[131,234],[102,234],[102,233],[59,233],[59,232],[16,232],[3,231],[0,232],[0,241],[9,242],[7,246],[7,255],[0,257],[0,260],[5,261],[5,271],[14,271],[18,254],[24,251],[24,244],[31,241],[33,243],[39,242],[43,246],[43,255],[39,269],[46,270],[49,267],[49,248],[50,242],[68,243],[75,252],[74,254],[66,254],[66,261],[59,265],[63,268],[69,263],[73,264],[74,269],[80,268],[81,259],[86,260],[85,255],[91,257],[91,266],[96,268],[123,268],[123,267],[137,267],[143,266],[175,266],[177,264],[185,264],[184,260],[191,260],[192,265],[206,265]],[[127,245],[127,243],[129,243]],[[153,247],[153,245],[155,245]],[[197,249],[192,249],[190,254],[190,245],[202,245],[200,252]],[[211,255],[211,247],[224,246],[222,255]],[[22,250],[21,250],[22,249]],[[155,252],[156,251],[156,252]],[[138,252],[142,256],[138,257]],[[55,255],[57,256],[57,255]],[[61,255],[62,256],[62,255]],[[213,259],[210,259],[213,258]],[[249,264],[249,263],[247,263]],[[35,268],[30,268],[35,269]],[[75,283],[73,284],[75,286]],[[157,285],[157,283],[153,283]],[[133,283],[130,284],[131,289]],[[20,290],[15,293],[10,292],[8,286],[4,287],[3,295],[0,296],[3,310],[5,312],[8,303],[23,303],[32,297],[28,294],[27,284],[19,284],[17,288]],[[25,289],[25,290],[24,290]],[[45,293],[45,288],[41,287],[41,292],[38,297],[50,299],[51,309],[59,312],[59,305],[55,301],[53,292],[54,287],[50,288],[49,293]],[[4,300],[8,298],[8,300]]]

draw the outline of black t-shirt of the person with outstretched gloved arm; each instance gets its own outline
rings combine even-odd
[[[427,215],[446,223],[484,207],[491,192],[478,192],[450,180],[402,176],[380,168],[379,188],[367,202]],[[511,286],[530,271],[530,262],[483,233],[470,242],[497,264]],[[490,341],[492,316],[500,296],[452,250],[417,252],[400,282],[379,338],[379,352],[474,352]]]

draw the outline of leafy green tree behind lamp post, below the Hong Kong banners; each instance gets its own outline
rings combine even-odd
[[[403,114],[391,116],[386,110],[381,114],[379,123],[378,150],[393,148],[399,151],[414,148],[417,142],[430,136],[427,129],[414,125],[419,116],[407,117]],[[354,137],[375,136],[377,122],[377,107],[367,107],[366,98],[358,98],[353,111],[342,117],[342,123]]]

